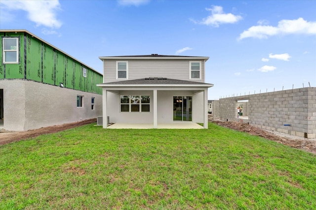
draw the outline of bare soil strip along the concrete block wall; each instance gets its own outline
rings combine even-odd
[[[219,121],[208,119],[208,121],[216,123],[217,125],[234,129],[237,131],[246,132],[248,134],[263,137],[268,140],[273,140],[281,144],[285,144],[294,148],[303,149],[308,152],[312,152],[316,154],[316,140],[308,140],[308,139],[298,139],[293,136],[293,138],[286,138],[279,135],[272,134],[260,128],[253,127],[248,123],[242,123],[237,121]]]

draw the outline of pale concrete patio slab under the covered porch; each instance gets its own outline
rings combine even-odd
[[[108,129],[153,129],[153,123],[114,123]],[[203,129],[203,126],[193,122],[160,123],[158,129]]]

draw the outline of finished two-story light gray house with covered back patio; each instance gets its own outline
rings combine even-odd
[[[103,119],[113,123],[207,123],[208,57],[99,57],[104,65]],[[103,123],[103,128],[107,124]]]

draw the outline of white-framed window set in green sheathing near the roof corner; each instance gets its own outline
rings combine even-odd
[[[3,38],[3,64],[19,63],[19,38]]]

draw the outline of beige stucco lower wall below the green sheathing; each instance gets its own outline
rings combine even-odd
[[[102,95],[29,80],[1,80],[0,88],[5,130],[25,131],[102,115]],[[83,96],[83,107],[77,107],[77,95]]]

